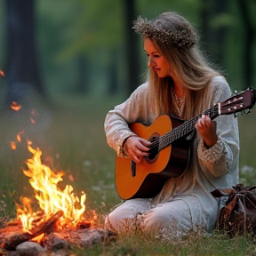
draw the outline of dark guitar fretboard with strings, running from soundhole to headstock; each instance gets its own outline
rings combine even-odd
[[[150,151],[151,150],[155,151],[157,148],[161,150],[161,149],[167,147],[168,145],[170,145],[174,140],[178,140],[181,137],[188,134],[188,132],[192,132],[195,129],[195,127],[192,128],[191,126],[192,125],[194,126],[196,124],[198,118],[201,117],[202,115],[209,115],[210,117],[212,117],[212,116],[216,116],[217,114],[218,114],[217,106],[214,106],[213,108],[209,108],[209,109],[205,110],[200,115],[195,116],[195,117],[191,118],[190,120],[188,120],[188,122],[180,124],[180,126],[175,127],[174,129],[172,129],[172,131],[166,132],[164,135],[157,137],[156,140],[154,140],[152,142],[152,144],[150,145],[150,147],[149,147]],[[183,132],[184,134],[180,135],[180,133],[182,133],[182,131],[185,131],[185,133]],[[164,143],[164,145],[161,145],[162,140],[163,141],[168,140],[168,141],[167,141],[167,143]],[[159,145],[161,145],[162,147],[159,148]],[[160,151],[160,150],[157,150],[157,151]]]

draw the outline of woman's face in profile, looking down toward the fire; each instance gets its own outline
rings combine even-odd
[[[152,68],[158,77],[170,76],[169,64],[149,38],[144,39],[144,51],[148,55],[148,67]]]

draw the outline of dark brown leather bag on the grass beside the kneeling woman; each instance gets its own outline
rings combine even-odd
[[[256,234],[256,186],[237,184],[232,188],[216,188],[212,196],[227,200],[226,205],[220,208],[217,229],[230,237]]]

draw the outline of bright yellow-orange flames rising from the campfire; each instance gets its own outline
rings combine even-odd
[[[27,197],[22,197],[22,206],[17,204],[17,216],[21,220],[23,230],[29,232],[33,228],[35,221],[47,220],[52,214],[62,211],[60,227],[76,227],[77,223],[83,220],[85,212],[86,195],[82,192],[79,198],[74,194],[73,187],[67,185],[64,190],[57,187],[62,180],[64,172],[52,172],[50,167],[42,164],[42,152],[39,148],[32,148],[32,142],[28,140],[28,151],[33,156],[26,161],[28,170],[23,170],[28,176],[31,186],[34,188],[36,200],[39,203],[41,212],[33,212],[31,201]],[[44,218],[40,215],[44,212]],[[95,218],[94,218],[95,219]]]

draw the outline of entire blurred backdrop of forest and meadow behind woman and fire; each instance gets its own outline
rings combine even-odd
[[[65,170],[77,190],[89,191],[89,204],[118,202],[104,118],[145,80],[146,56],[132,20],[166,11],[195,25],[205,54],[233,92],[256,86],[255,0],[0,0],[1,202],[29,190],[19,172],[26,150],[13,153],[9,145],[24,130],[45,162]],[[12,101],[21,104],[20,112],[10,110]],[[28,121],[32,109],[36,124]],[[250,173],[256,167],[254,119],[239,119],[240,163]]]

